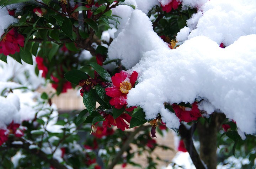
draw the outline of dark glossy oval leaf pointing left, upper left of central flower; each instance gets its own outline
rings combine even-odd
[[[66,80],[76,85],[79,85],[80,80],[88,79],[88,75],[86,73],[76,69],[65,73],[64,77],[66,78]]]

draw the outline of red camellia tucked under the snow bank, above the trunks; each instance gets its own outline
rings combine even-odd
[[[192,108],[187,108],[176,104],[173,104],[172,108],[174,109],[176,116],[180,119],[180,122],[192,122],[197,120],[198,117],[202,116],[198,109],[197,102],[192,104]]]

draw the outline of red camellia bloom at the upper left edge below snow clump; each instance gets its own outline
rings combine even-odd
[[[24,36],[18,34],[11,29],[0,41],[0,53],[4,53],[5,56],[20,52],[20,46],[24,46]]]

